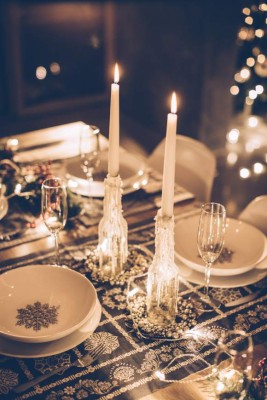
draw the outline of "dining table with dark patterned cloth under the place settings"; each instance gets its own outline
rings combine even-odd
[[[73,201],[79,204],[79,212],[69,217],[60,232],[60,260],[62,265],[82,274],[93,283],[101,305],[101,318],[86,338],[82,337],[83,340],[78,340],[77,344],[67,346],[66,349],[60,345],[64,340],[58,340],[56,342],[60,342],[59,345],[55,343],[51,352],[46,350],[43,343],[41,346],[37,344],[34,351],[30,350],[35,344],[22,344],[20,349],[16,342],[13,348],[12,341],[1,337],[0,332],[0,398],[214,399],[211,380],[201,378],[206,369],[212,366],[213,347],[210,348],[205,342],[197,348],[192,339],[183,334],[172,340],[142,334],[131,319],[127,300],[128,282],[98,281],[92,274],[88,257],[98,245],[103,196],[91,196],[90,191],[86,195],[81,186],[78,190],[68,170],[70,162],[79,157],[77,132],[81,124],[77,122],[2,138],[0,146],[8,140],[18,139],[10,160],[19,168],[19,173],[24,171],[26,174],[25,171],[31,170],[33,166],[41,166],[42,171],[47,167],[53,174],[70,182],[69,189]],[[103,151],[108,147],[108,140],[104,136],[101,136],[101,146]],[[136,176],[127,177],[128,186],[123,187],[122,209],[128,225],[131,263],[136,266],[137,259],[141,257],[138,266],[142,275],[152,262],[155,251],[155,216],[160,207],[162,177],[148,168],[144,159],[139,160],[138,155],[128,154],[123,149],[121,154],[120,160],[123,162],[127,157],[137,160]],[[3,171],[1,161],[3,158],[0,160],[0,173]],[[82,180],[79,179],[77,182],[81,184]],[[7,193],[5,195],[8,197]],[[181,221],[186,223],[200,214],[201,203],[184,188],[175,187],[174,202],[175,224]],[[175,260],[183,271],[182,261],[178,258]],[[44,225],[40,211],[33,213],[32,204],[27,203],[27,199],[19,193],[10,196],[6,214],[0,219],[0,273],[29,265],[53,265],[54,262],[54,241]],[[220,306],[215,305],[212,312],[200,314],[194,331],[201,332],[209,343],[216,341],[226,330],[245,331],[253,339],[253,373],[257,383],[259,361],[267,356],[267,261],[262,267],[259,280],[233,286],[212,285],[210,292],[220,302]],[[203,282],[196,283],[181,272],[181,298],[190,299],[192,293],[200,294],[203,288],[204,277]],[[4,312],[0,293],[0,313]],[[16,392],[18,385],[74,362],[100,343],[104,344],[104,350],[90,366],[66,368],[22,393]],[[185,355],[185,359],[175,362],[180,355]],[[166,369],[172,360],[174,362],[168,372],[170,379],[160,379],[157,372]],[[254,398],[257,398],[256,395]]]

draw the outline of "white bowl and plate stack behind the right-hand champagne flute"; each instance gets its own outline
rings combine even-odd
[[[175,225],[175,256],[181,275],[196,284],[204,284],[205,265],[197,249],[199,215],[181,219]],[[211,287],[239,287],[259,281],[267,275],[267,240],[254,226],[227,218],[225,250],[211,269]],[[220,262],[221,261],[221,262]]]

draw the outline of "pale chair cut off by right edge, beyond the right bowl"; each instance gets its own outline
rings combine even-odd
[[[255,197],[238,217],[241,221],[256,226],[267,235],[267,195]]]

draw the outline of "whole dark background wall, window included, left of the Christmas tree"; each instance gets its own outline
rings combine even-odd
[[[166,114],[170,109],[173,90],[181,97],[179,133],[199,138],[210,147],[224,143],[232,114],[229,87],[236,63],[236,35],[240,25],[242,0],[10,0],[2,1],[0,6],[0,136],[77,119],[98,124],[107,134],[109,90],[116,60],[121,69],[122,131],[133,136],[148,152],[165,135]],[[39,14],[38,6],[41,7]],[[50,19],[47,18],[49,7]],[[73,13],[67,11],[70,7],[75,10]],[[90,7],[94,8],[98,24],[92,19],[92,14],[90,16]],[[25,24],[33,21],[33,10],[37,23],[31,23],[29,29]],[[82,24],[79,24],[79,18],[82,18]],[[61,25],[58,23],[62,19],[65,21],[62,25],[65,33],[60,32]],[[76,58],[80,69],[75,71],[75,79],[80,80],[77,80],[80,92],[75,91],[73,85],[71,89],[68,86],[72,82],[71,73],[64,81],[62,72],[60,77],[55,77],[54,82],[57,90],[64,87],[63,95],[55,92],[53,87],[50,97],[40,101],[37,96],[35,104],[34,97],[29,97],[27,91],[35,90],[37,83],[44,86],[51,81],[47,79],[42,83],[35,81],[33,85],[29,84],[29,76],[23,64],[26,33],[30,32],[28,40],[31,43],[34,43],[35,37],[39,40],[41,38],[41,48],[38,51],[42,55],[43,49],[43,54],[49,55],[49,46],[52,47],[51,28],[55,26],[55,42],[58,40],[58,52],[65,63],[62,71],[65,65],[70,65],[70,61],[75,65],[73,59],[77,56],[73,50],[74,36],[76,40],[79,37],[77,46],[82,46],[83,40],[85,42],[85,50],[78,53]],[[95,52],[90,47],[94,34],[101,40],[102,58],[99,56],[99,47]],[[60,45],[58,37],[64,46]],[[53,60],[56,55],[53,51]],[[45,63],[46,58],[39,57],[40,63]],[[34,44],[27,50],[28,64],[32,60],[33,67],[38,65]],[[81,73],[81,65],[88,65],[88,69],[91,65],[95,71],[105,69],[105,81],[104,84],[101,82],[99,93],[88,82],[92,79],[90,74],[87,75],[86,70]],[[61,86],[58,85],[59,79]],[[82,90],[86,86],[87,89]],[[90,87],[94,87],[94,90]],[[30,106],[25,101],[27,98],[31,98]]]

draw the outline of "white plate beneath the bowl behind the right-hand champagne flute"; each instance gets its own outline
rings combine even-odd
[[[196,283],[197,285],[204,285],[205,276],[202,272],[195,271],[189,266],[182,263],[175,255],[175,263],[179,267],[179,272],[182,278],[188,282]],[[265,268],[254,268],[250,271],[234,275],[234,276],[216,276],[210,277],[210,287],[217,288],[235,288],[241,286],[252,285],[253,283],[259,282],[261,279],[267,276],[267,260]]]

